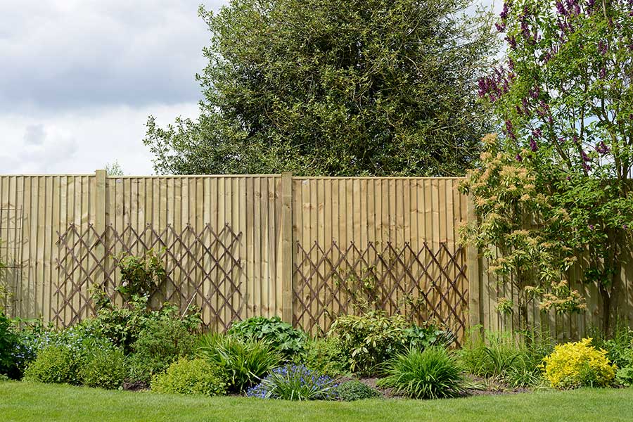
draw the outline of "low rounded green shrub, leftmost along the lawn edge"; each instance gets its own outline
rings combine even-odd
[[[27,366],[24,378],[40,383],[78,385],[81,357],[68,345],[50,345]]]

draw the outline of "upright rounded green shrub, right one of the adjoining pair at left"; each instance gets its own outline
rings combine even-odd
[[[79,366],[79,381],[106,390],[119,388],[127,376],[123,351],[106,339],[94,341],[87,349]]]

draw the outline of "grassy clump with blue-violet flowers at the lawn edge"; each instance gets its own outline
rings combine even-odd
[[[337,387],[333,378],[303,365],[286,365],[273,369],[246,395],[262,399],[326,400],[336,398]]]

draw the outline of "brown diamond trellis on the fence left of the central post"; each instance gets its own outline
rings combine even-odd
[[[236,234],[229,224],[220,231],[210,224],[200,231],[188,224],[181,231],[169,224],[160,230],[147,224],[140,231],[128,225],[120,232],[111,225],[99,232],[93,224],[86,229],[70,224],[58,236],[60,277],[52,319],[58,326],[94,315],[90,289],[95,285],[121,302],[114,290],[120,281],[117,255],[148,250],[158,254],[166,271],[165,280],[151,298],[153,304],[170,302],[182,312],[195,304],[203,315],[210,315],[203,321],[205,326],[217,331],[226,330],[240,318],[244,300],[236,276],[241,269],[236,247],[241,233]]]

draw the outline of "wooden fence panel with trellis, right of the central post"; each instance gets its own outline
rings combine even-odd
[[[466,330],[459,179],[293,179],[294,321],[326,331],[367,307]],[[369,303],[367,303],[369,302]]]

